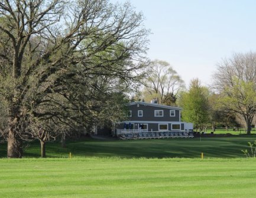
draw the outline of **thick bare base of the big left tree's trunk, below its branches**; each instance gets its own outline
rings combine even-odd
[[[7,157],[8,158],[21,158],[22,151],[22,142],[21,140],[14,135],[13,131],[9,131],[8,134],[8,144],[7,144]]]

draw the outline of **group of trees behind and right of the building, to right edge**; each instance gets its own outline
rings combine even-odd
[[[247,134],[251,133],[256,113],[256,53],[223,59],[209,87],[196,78],[186,89],[170,64],[158,60],[151,64],[142,97],[158,98],[160,104],[179,105],[183,108],[182,120],[193,123],[196,130],[211,124],[215,131],[219,123],[225,127],[243,126]]]

